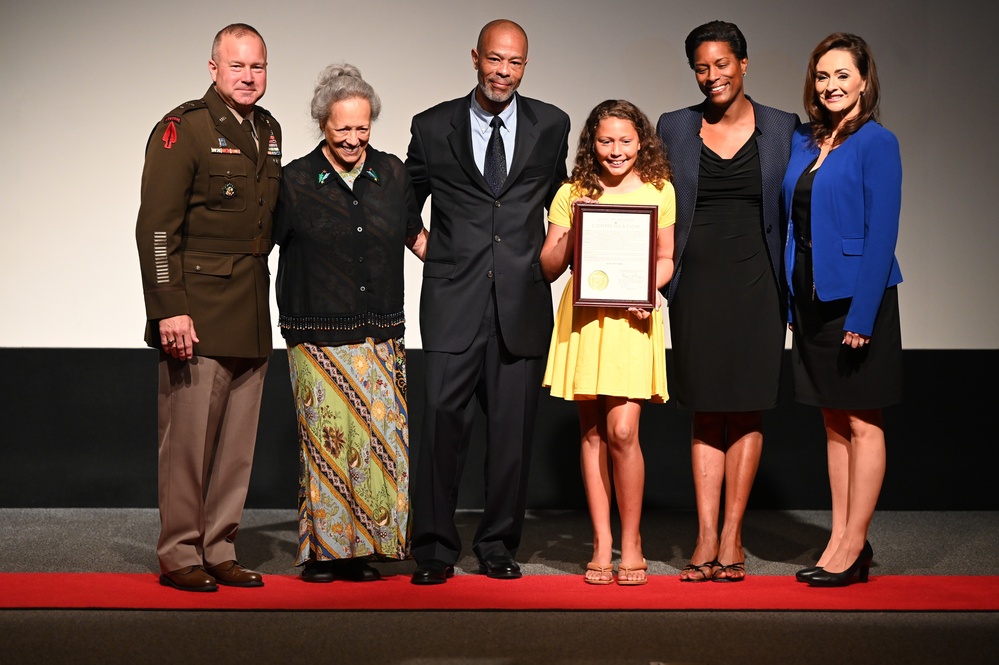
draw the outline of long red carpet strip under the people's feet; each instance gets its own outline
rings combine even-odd
[[[813,589],[790,576],[738,584],[655,576],[629,588],[588,586],[577,575],[459,575],[435,587],[413,586],[405,575],[365,584],[267,575],[265,583],[185,593],[151,573],[0,573],[0,609],[999,611],[999,576],[879,575],[842,589]]]

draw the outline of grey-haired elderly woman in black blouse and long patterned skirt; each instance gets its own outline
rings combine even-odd
[[[409,554],[403,258],[422,258],[426,232],[402,162],[368,145],[380,110],[356,67],[327,67],[312,98],[323,140],[284,168],[275,213],[307,582],[377,580],[371,560]]]

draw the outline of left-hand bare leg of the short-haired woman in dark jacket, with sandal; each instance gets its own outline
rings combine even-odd
[[[694,472],[697,505],[697,544],[690,557],[697,570],[684,570],[680,579],[698,581],[711,577],[712,566],[701,566],[718,558],[718,515],[725,479],[725,414],[694,413],[691,424],[690,461]]]

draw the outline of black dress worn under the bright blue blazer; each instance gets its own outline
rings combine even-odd
[[[812,264],[812,184],[819,169],[808,165],[791,203],[795,249],[791,289],[794,398],[830,409],[877,409],[902,401],[902,334],[898,288],[885,289],[869,344],[843,345],[850,298],[823,302],[815,295]]]

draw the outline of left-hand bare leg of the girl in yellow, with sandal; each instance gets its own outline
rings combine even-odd
[[[607,450],[607,418],[604,413],[604,398],[581,400],[579,406],[579,429],[582,432],[580,444],[580,467],[583,473],[583,487],[586,490],[586,503],[593,523],[593,563],[609,566],[613,559],[614,538],[610,528],[611,484],[609,453]],[[613,574],[587,570],[586,579],[606,580]]]

